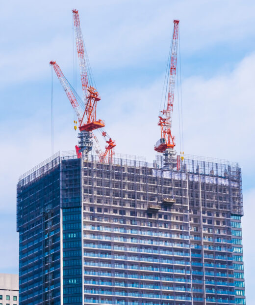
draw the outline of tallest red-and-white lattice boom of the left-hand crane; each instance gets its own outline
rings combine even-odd
[[[85,100],[87,94],[87,88],[89,87],[89,82],[88,82],[88,73],[86,69],[85,47],[83,45],[83,37],[80,29],[78,10],[73,9],[73,16],[74,16],[74,27],[76,34],[77,54],[78,54],[78,61],[80,66],[81,85]]]

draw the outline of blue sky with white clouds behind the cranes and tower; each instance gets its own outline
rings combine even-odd
[[[4,1],[0,10],[0,272],[18,272],[16,184],[51,155],[51,67],[55,60],[81,94],[72,9],[97,89],[98,118],[116,153],[153,161],[158,112],[179,19],[181,86],[173,133],[179,151],[228,159],[242,168],[247,304],[255,304],[255,2],[253,0]],[[181,90],[180,90],[181,88]],[[179,103],[179,104],[178,104]],[[54,152],[74,150],[74,111],[53,75]]]

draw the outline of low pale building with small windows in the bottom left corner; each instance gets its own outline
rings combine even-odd
[[[0,305],[19,304],[19,275],[0,273]]]

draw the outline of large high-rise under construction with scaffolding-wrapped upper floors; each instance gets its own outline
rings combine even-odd
[[[241,169],[55,154],[17,185],[20,304],[245,304]]]

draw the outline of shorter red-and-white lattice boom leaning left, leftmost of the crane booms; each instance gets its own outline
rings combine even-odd
[[[80,107],[79,107],[79,104],[76,100],[76,97],[75,97],[67,79],[65,78],[63,72],[61,71],[61,69],[60,69],[59,65],[56,63],[56,61],[51,61],[50,64],[53,66],[53,68],[56,72],[56,75],[60,81],[60,84],[62,85],[64,91],[66,92],[67,97],[69,98],[73,108],[75,109],[78,121],[81,122]]]

